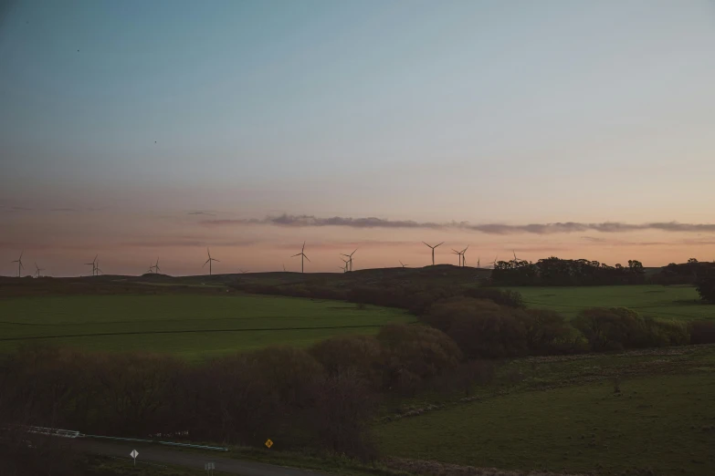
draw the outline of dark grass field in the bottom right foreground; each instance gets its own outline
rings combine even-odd
[[[715,347],[531,358],[501,372],[515,370],[523,381],[484,388],[479,401],[379,424],[384,453],[522,471],[715,474]]]

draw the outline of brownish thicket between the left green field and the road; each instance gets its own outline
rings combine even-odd
[[[134,438],[161,435],[373,455],[367,425],[381,395],[483,379],[447,335],[385,326],[308,350],[269,347],[188,365],[151,354],[26,347],[0,361],[7,424]],[[462,388],[460,387],[460,388]],[[2,436],[2,435],[0,435]]]

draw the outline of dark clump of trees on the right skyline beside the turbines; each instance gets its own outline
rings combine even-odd
[[[645,282],[643,264],[629,260],[627,266],[589,260],[562,260],[555,256],[536,263],[499,261],[491,279],[495,285],[636,285]]]

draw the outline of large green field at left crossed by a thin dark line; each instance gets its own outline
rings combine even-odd
[[[0,349],[52,343],[189,358],[330,336],[376,333],[415,320],[399,309],[261,295],[60,295],[0,300]]]

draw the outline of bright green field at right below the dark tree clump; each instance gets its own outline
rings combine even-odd
[[[529,307],[552,309],[573,317],[588,307],[629,307],[663,319],[715,319],[715,305],[700,301],[692,286],[624,285],[574,287],[511,287]]]

